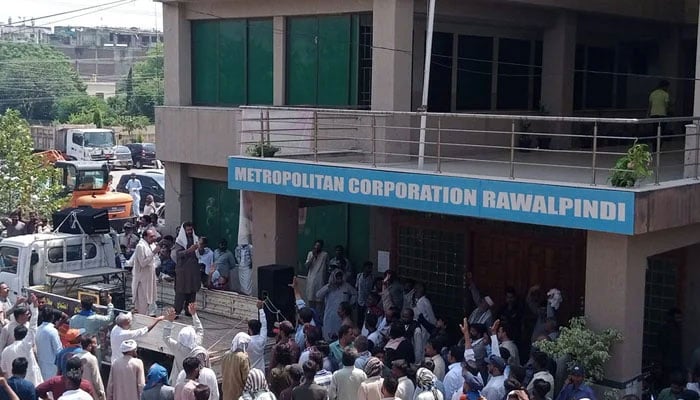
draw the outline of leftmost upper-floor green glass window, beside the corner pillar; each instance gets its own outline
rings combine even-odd
[[[192,21],[192,103],[272,104],[272,20]]]

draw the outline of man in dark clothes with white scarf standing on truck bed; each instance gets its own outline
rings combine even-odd
[[[180,315],[185,309],[188,317],[187,305],[194,303],[197,291],[202,287],[202,276],[199,270],[199,261],[196,251],[199,249],[199,238],[194,233],[192,222],[185,222],[180,227],[175,239],[171,256],[175,261],[175,314]]]

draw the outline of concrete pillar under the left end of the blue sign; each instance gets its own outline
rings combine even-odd
[[[249,192],[253,204],[253,295],[258,293],[258,268],[297,264],[299,199]]]

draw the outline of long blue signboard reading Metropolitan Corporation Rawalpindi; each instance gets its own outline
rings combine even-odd
[[[230,157],[230,189],[632,234],[634,193],[387,171],[297,160]]]

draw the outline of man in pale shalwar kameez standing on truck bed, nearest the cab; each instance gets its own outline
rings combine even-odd
[[[134,308],[139,314],[155,316],[156,307],[156,260],[160,247],[155,244],[158,232],[149,228],[134,251],[134,269],[132,270],[131,293],[134,296]]]

